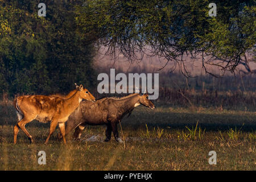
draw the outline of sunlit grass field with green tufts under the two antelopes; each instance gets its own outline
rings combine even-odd
[[[122,121],[124,143],[101,142],[104,126],[88,126],[82,140],[57,140],[55,131],[47,145],[49,124],[33,121],[26,128],[29,141],[19,131],[13,144],[16,114],[10,101],[0,102],[0,170],[255,170],[256,113],[254,110],[170,107],[155,110],[139,106]],[[95,142],[86,139],[97,136]],[[209,151],[217,164],[210,165]],[[46,165],[38,152],[46,152]]]

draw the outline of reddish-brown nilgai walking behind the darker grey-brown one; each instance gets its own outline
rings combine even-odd
[[[24,131],[31,143],[33,142],[32,136],[26,130],[25,125],[34,119],[43,123],[51,122],[46,144],[57,124],[59,124],[63,135],[63,142],[66,143],[65,122],[68,120],[69,115],[79,107],[82,99],[95,101],[92,94],[82,85],[76,85],[76,92],[67,99],[40,95],[16,97],[13,104],[18,115],[18,123],[14,126],[14,143],[16,143],[19,129]]]

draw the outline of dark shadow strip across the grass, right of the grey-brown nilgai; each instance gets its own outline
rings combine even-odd
[[[137,130],[139,127],[159,126],[161,128],[185,129],[185,126],[196,126],[199,122],[201,129],[205,131],[225,131],[230,128],[241,129],[242,131],[256,130],[256,115],[238,115],[238,114],[202,114],[202,113],[147,113],[134,114],[129,118],[124,118],[122,125],[124,127],[133,127]]]

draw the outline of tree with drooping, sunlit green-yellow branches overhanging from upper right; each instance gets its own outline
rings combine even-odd
[[[113,58],[121,53],[138,60],[138,52],[160,56],[189,76],[184,56],[191,55],[202,60],[206,72],[205,64],[234,72],[246,53],[255,60],[256,3],[215,3],[217,16],[210,17],[206,0],[88,0],[76,7],[76,23],[87,43],[108,47]]]

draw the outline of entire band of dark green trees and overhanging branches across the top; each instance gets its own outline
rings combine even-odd
[[[205,72],[206,64],[256,72],[249,66],[255,61],[254,0],[216,0],[216,17],[208,15],[207,0],[47,0],[46,17],[38,16],[39,3],[0,1],[0,89],[11,95],[68,92],[74,82],[90,87],[102,46],[114,58],[164,57],[185,76],[187,55],[201,59]]]

